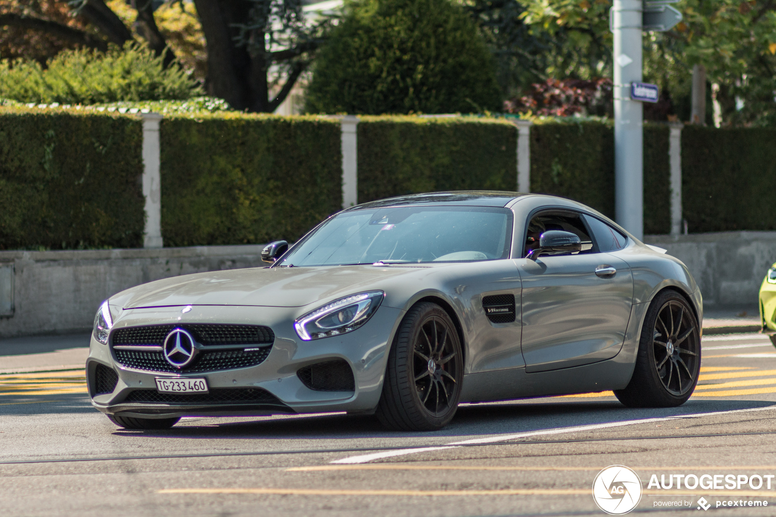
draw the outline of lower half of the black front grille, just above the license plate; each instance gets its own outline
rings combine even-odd
[[[272,346],[262,346],[258,350],[200,350],[194,360],[183,368],[176,368],[169,364],[163,352],[113,350],[113,353],[116,354],[116,361],[128,368],[189,373],[256,366],[264,362],[270,350]]]

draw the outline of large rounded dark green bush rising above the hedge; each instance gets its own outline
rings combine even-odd
[[[493,59],[462,6],[361,0],[346,9],[315,61],[308,112],[499,109]]]

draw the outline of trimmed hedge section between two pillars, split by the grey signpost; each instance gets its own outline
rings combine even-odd
[[[644,233],[670,232],[668,136],[644,126]],[[606,122],[531,127],[531,191],[574,199],[615,217],[615,133]]]

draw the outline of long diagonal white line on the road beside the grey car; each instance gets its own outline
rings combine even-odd
[[[590,431],[592,429],[606,429],[608,427],[634,426],[636,424],[647,424],[650,422],[666,422],[667,420],[697,419],[703,416],[730,415],[733,413],[742,413],[742,412],[767,411],[769,409],[776,409],[776,405],[769,405],[765,408],[732,409],[730,411],[716,411],[716,412],[710,412],[710,413],[695,413],[692,415],[666,416],[666,417],[656,418],[656,419],[622,420],[621,422],[607,422],[604,424],[594,424],[591,426],[574,426],[574,427],[561,427],[556,429],[542,429],[540,431],[530,431],[528,433],[499,434],[496,436],[488,436],[487,438],[466,439],[461,442],[445,443],[440,446],[422,447],[419,449],[387,450],[382,453],[362,454],[359,456],[342,458],[341,460],[334,460],[334,461],[331,461],[330,463],[365,464],[372,460],[381,460],[383,458],[390,458],[395,456],[406,456],[407,454],[423,453],[429,450],[455,449],[457,448],[456,446],[476,444],[476,443],[494,443],[494,442],[502,442],[510,439],[527,438],[528,436],[546,436],[546,435],[563,434],[563,433],[579,433],[580,431]]]

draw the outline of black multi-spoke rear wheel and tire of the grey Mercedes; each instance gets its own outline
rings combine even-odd
[[[700,371],[695,312],[676,291],[663,291],[647,309],[633,377],[615,395],[629,408],[674,408],[690,398]]]

